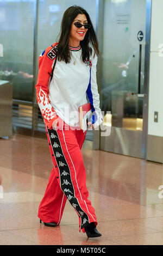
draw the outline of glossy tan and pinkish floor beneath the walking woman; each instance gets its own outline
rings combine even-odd
[[[37,210],[52,170],[47,140],[0,139],[0,245],[163,245],[162,164],[92,150],[90,141],[82,153],[102,233],[96,239],[79,233],[68,201],[60,226],[39,222]]]

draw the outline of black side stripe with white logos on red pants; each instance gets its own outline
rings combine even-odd
[[[57,161],[59,173],[60,173],[60,185],[61,190],[64,192],[67,199],[70,201],[71,205],[78,212],[81,218],[81,229],[85,227],[89,223],[89,217],[86,212],[80,207],[78,199],[75,197],[74,188],[71,180],[70,168],[65,159],[64,153],[61,148],[60,140],[58,133],[55,129],[50,130],[47,127],[48,136],[51,141],[51,146],[53,149],[53,153],[55,156],[55,160]]]

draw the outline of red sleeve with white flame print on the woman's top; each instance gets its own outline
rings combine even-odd
[[[35,86],[37,103],[40,107],[43,120],[49,129],[52,129],[53,121],[58,117],[48,97],[48,84],[50,82],[50,74],[52,72],[52,65],[55,58],[52,60],[47,56],[47,54],[52,50],[52,48],[53,47],[48,47],[39,56],[39,74],[37,76],[37,83]]]

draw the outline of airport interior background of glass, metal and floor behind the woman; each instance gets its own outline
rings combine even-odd
[[[93,238],[68,200],[57,227],[37,216],[53,169],[39,56],[72,5],[89,13],[100,52],[104,120],[81,149],[102,234]],[[163,245],[162,9],[162,0],[0,0],[0,245]]]

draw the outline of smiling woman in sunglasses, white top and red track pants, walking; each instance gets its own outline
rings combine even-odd
[[[82,229],[88,237],[101,234],[96,229],[95,209],[88,199],[81,152],[86,131],[80,129],[78,108],[88,98],[93,113],[89,127],[102,123],[96,82],[97,54],[98,41],[90,16],[82,7],[73,5],[62,17],[59,41],[39,57],[36,84],[53,161],[39,205],[40,223],[43,221],[49,227],[59,225],[68,199],[79,216],[79,231]]]

